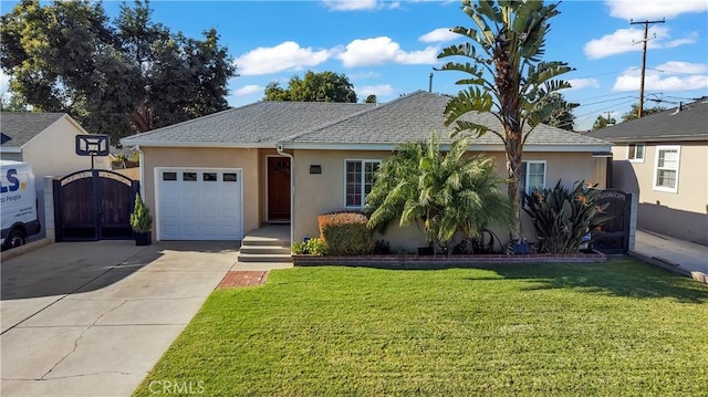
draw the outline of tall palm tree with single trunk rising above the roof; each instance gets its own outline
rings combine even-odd
[[[556,6],[544,6],[540,0],[499,1],[499,4],[486,0],[472,4],[470,0],[462,0],[462,11],[475,27],[458,27],[451,31],[471,42],[448,46],[438,54],[439,59],[466,58],[465,63],[448,62],[440,70],[469,75],[457,82],[468,87],[448,103],[446,125],[455,123],[455,134],[469,132],[481,136],[490,132],[503,142],[509,175],[507,194],[516,205],[510,230],[512,241],[521,236],[519,180],[523,144],[533,128],[558,106],[558,102],[544,103],[542,100],[552,92],[570,87],[568,82],[553,79],[572,67],[563,62],[541,61],[549,20],[559,13]],[[501,128],[464,117],[476,112],[491,113]]]

